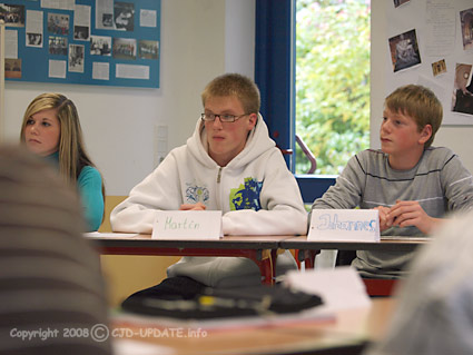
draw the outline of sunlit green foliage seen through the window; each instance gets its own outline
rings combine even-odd
[[[297,0],[296,132],[339,174],[369,146],[369,0]],[[296,174],[309,162],[296,148]]]

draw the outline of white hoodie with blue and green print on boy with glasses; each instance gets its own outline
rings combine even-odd
[[[150,234],[156,210],[178,210],[181,204],[199,201],[207,210],[223,211],[225,235],[306,233],[307,214],[297,183],[260,115],[244,150],[226,167],[209,157],[199,119],[187,145],[173,149],[111,211],[111,227],[114,231]],[[295,267],[295,262],[286,252],[278,257],[277,269],[288,267]],[[236,257],[184,257],[168,268],[168,276],[188,276],[209,286],[260,280],[255,263]]]

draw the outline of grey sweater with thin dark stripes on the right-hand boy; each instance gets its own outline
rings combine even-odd
[[[316,199],[313,209],[391,207],[396,200],[416,200],[431,217],[473,206],[473,179],[449,148],[430,147],[410,170],[390,167],[387,155],[367,149],[349,159],[336,184]],[[416,227],[392,227],[383,235],[418,236]],[[402,277],[412,253],[357,252],[353,265],[367,277]]]

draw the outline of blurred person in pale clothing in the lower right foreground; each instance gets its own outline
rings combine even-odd
[[[365,355],[473,354],[473,211],[445,223],[397,289],[386,337]]]

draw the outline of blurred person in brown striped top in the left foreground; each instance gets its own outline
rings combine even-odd
[[[77,194],[22,147],[0,147],[0,354],[111,354],[99,256]]]

